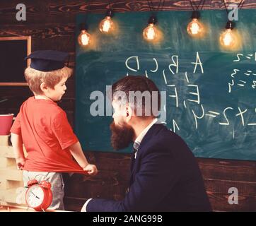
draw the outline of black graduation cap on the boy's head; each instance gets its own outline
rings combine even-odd
[[[69,54],[56,50],[38,50],[29,54],[25,59],[31,59],[30,67],[38,71],[54,71],[62,69]]]

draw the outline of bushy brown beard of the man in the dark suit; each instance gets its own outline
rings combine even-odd
[[[134,138],[134,129],[132,126],[129,126],[126,122],[122,123],[122,126],[118,126],[112,121],[110,124],[111,135],[111,145],[114,150],[120,150],[127,148],[132,139]]]

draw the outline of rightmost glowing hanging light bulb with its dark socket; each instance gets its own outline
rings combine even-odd
[[[238,44],[238,40],[235,33],[233,32],[233,28],[234,23],[228,20],[228,23],[226,24],[226,30],[221,34],[219,38],[222,47],[230,49]]]

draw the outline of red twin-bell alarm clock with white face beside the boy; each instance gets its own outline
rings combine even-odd
[[[51,183],[47,181],[30,180],[25,194],[28,206],[37,211],[45,211],[52,203],[51,186]]]

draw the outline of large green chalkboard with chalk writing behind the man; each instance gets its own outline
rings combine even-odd
[[[163,123],[186,141],[195,156],[256,160],[256,10],[238,12],[235,24],[242,45],[235,52],[219,46],[226,11],[202,11],[208,31],[200,40],[187,34],[190,11],[158,12],[163,32],[158,44],[142,38],[149,16],[150,12],[115,13],[118,32],[112,36],[98,31],[103,14],[77,16],[76,35],[86,20],[94,40],[89,48],[76,45],[75,131],[83,149],[114,151],[112,117],[106,115],[111,107],[96,117],[90,108],[95,100],[106,105],[106,85],[129,74],[148,76],[166,91]],[[91,100],[95,90],[103,98]]]

